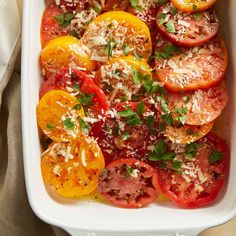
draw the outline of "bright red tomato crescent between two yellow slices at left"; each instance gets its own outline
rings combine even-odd
[[[41,98],[50,90],[64,90],[72,95],[78,97],[82,96],[84,99],[88,97],[87,95],[93,95],[91,102],[85,101],[83,104],[85,110],[87,105],[90,117],[105,114],[108,110],[108,101],[104,92],[95,85],[93,80],[85,72],[75,68],[63,68],[52,74],[49,79],[43,83],[39,97]]]

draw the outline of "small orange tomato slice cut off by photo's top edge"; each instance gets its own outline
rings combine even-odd
[[[204,11],[216,3],[216,0],[171,0],[171,2],[183,12],[197,12]]]

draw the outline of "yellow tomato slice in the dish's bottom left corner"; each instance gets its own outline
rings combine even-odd
[[[70,143],[52,143],[41,159],[45,184],[59,195],[69,198],[93,192],[104,167],[99,146],[85,136]]]

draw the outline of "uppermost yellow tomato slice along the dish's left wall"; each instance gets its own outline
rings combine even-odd
[[[51,40],[42,50],[40,57],[43,74],[48,78],[62,67],[81,67],[93,70],[88,48],[81,41],[71,36]]]

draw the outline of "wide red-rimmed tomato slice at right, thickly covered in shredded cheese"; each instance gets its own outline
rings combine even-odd
[[[207,89],[219,84],[228,66],[228,52],[221,38],[201,47],[179,48],[158,35],[156,71],[174,92]]]

